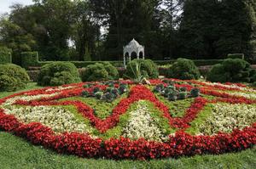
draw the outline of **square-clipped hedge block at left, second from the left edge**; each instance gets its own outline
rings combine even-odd
[[[29,66],[38,65],[38,52],[23,52],[20,54],[21,66],[27,69]]]

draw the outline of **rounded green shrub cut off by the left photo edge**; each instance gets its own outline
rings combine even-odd
[[[0,65],[0,91],[15,91],[26,87],[30,82],[26,70],[19,65]]]

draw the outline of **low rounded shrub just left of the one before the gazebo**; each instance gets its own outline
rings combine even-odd
[[[118,70],[108,62],[88,65],[84,72],[82,72],[83,82],[116,80],[118,78]]]

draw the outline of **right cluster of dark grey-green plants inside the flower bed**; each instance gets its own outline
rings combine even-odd
[[[196,98],[200,96],[199,88],[193,88],[190,92],[188,92],[186,87],[177,88],[174,86],[174,84],[172,84],[172,82],[169,82],[169,85],[166,87],[163,84],[157,85],[154,87],[154,92],[160,93],[170,101]]]

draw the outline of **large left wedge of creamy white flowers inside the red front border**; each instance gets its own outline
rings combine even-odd
[[[77,120],[72,112],[61,107],[50,106],[9,106],[3,109],[5,114],[15,115],[22,122],[40,122],[54,132],[89,132],[83,121]]]

